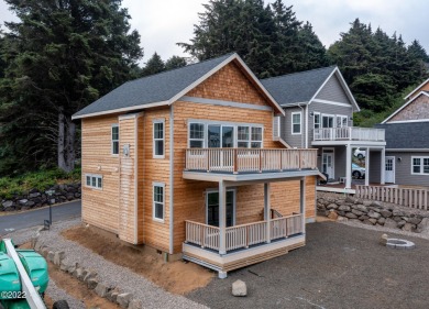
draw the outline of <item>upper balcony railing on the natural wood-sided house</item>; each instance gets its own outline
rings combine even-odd
[[[317,150],[188,148],[186,170],[262,173],[317,167]]]

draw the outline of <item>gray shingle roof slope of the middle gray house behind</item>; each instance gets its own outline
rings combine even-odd
[[[323,67],[262,79],[266,90],[280,106],[308,102],[337,66]]]

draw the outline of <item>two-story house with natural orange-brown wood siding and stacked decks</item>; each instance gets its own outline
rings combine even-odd
[[[82,221],[220,277],[305,245],[320,173],[284,113],[237,54],[125,82],[73,117]]]

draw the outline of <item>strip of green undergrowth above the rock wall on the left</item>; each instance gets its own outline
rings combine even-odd
[[[31,189],[45,191],[58,183],[80,181],[80,167],[72,173],[65,173],[58,168],[30,172],[19,177],[0,178],[0,198],[12,198]]]

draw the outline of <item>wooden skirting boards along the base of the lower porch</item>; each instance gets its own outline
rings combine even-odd
[[[256,255],[246,256],[244,258],[237,260],[237,261],[233,261],[233,262],[229,262],[229,263],[226,263],[226,264],[216,263],[213,261],[209,261],[208,258],[205,258],[205,257],[201,257],[201,256],[197,256],[196,254],[193,254],[193,253],[189,253],[189,252],[184,252],[183,253],[183,258],[186,260],[186,261],[199,264],[201,266],[205,266],[207,268],[217,271],[217,272],[219,272],[219,271],[231,272],[231,271],[234,271],[234,269],[238,269],[238,268],[242,268],[242,267],[245,267],[245,266],[250,266],[250,265],[253,265],[253,264],[256,264],[256,263],[261,263],[261,262],[264,262],[264,261],[267,261],[267,260],[280,256],[280,255],[285,255],[290,250],[295,250],[295,249],[301,247],[305,244],[306,243],[302,241],[302,242],[289,245],[287,247],[280,247],[280,249],[277,249],[277,250],[272,250],[272,251],[260,253],[260,254],[256,254]]]

